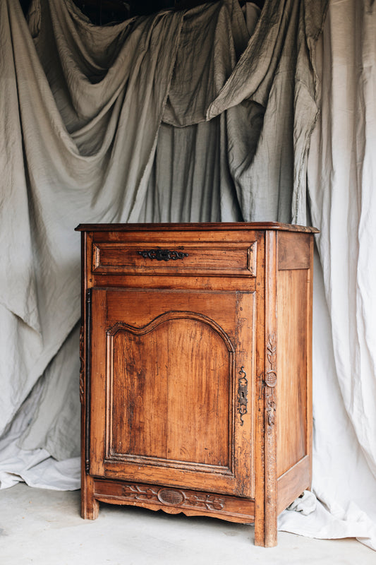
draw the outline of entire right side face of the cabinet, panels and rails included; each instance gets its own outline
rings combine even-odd
[[[288,232],[278,234],[278,512],[308,489],[312,480],[314,242],[308,234],[302,234],[289,251],[290,236]]]

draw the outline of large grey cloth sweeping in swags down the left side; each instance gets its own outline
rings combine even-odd
[[[128,221],[132,215],[137,219],[183,22],[183,13],[167,11],[111,29],[107,43],[115,67],[104,81],[110,84],[114,73],[117,83],[112,93],[104,85],[83,121],[73,102],[83,103],[89,81],[82,72],[64,79],[58,62],[73,57],[85,33],[89,49],[93,34],[106,32],[79,18],[69,0],[36,0],[32,9],[40,14],[39,32],[33,22],[35,43],[18,2],[1,0],[1,76],[6,77],[0,96],[6,116],[1,237],[8,254],[1,263],[1,304],[13,313],[4,314],[13,347],[2,365],[1,431],[80,317],[80,242],[74,227],[79,222]],[[68,21],[71,35],[65,35]],[[128,25],[136,29],[127,39]],[[92,59],[98,58],[100,46],[93,49]],[[99,59],[97,66],[106,63]],[[66,71],[69,75],[69,64]],[[64,80],[72,81],[77,100],[61,84]],[[40,333],[38,347],[28,332],[20,331],[25,323]],[[15,333],[11,328],[16,327]],[[21,339],[27,343],[18,343]]]

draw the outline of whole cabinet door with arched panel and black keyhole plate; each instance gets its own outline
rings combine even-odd
[[[91,475],[253,498],[254,302],[92,289]]]

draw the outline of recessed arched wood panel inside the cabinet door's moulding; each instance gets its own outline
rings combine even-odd
[[[110,346],[111,456],[231,467],[233,354],[206,321],[183,314],[140,335],[119,328]]]

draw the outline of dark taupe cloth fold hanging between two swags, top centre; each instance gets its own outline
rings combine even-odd
[[[186,12],[163,121],[175,127],[205,121],[234,71],[249,34],[238,0]]]

